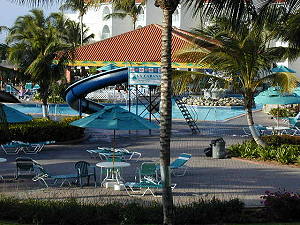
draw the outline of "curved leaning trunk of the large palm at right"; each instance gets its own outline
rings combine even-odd
[[[247,116],[248,126],[254,141],[258,145],[265,147],[266,143],[261,139],[257,129],[254,127],[254,120],[253,120],[253,113],[252,113],[253,102],[254,100],[252,95],[245,97],[246,116]]]

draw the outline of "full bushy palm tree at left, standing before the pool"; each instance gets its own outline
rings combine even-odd
[[[7,37],[11,43],[9,60],[18,64],[28,79],[40,85],[44,117],[48,116],[50,84],[62,77],[64,52],[70,50],[61,41],[61,31],[51,21],[52,17],[45,18],[41,10],[32,10],[31,14],[17,18]],[[54,59],[58,59],[57,64],[53,64]]]

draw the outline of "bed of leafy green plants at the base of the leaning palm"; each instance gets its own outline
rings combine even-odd
[[[227,150],[231,157],[276,161],[282,164],[300,163],[300,137],[290,135],[271,135],[263,137],[266,147],[257,145],[254,140],[231,145]]]

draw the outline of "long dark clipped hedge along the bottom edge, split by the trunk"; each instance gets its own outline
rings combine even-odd
[[[210,224],[241,221],[244,204],[238,199],[201,200],[175,206],[176,224]],[[19,200],[0,197],[0,219],[34,224],[161,224],[162,206],[156,202],[127,202],[105,205],[62,201]]]

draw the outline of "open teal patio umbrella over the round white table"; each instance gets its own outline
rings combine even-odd
[[[157,124],[117,105],[105,106],[103,109],[90,116],[72,122],[71,125],[85,128],[113,130],[113,147],[115,147],[116,130],[149,130],[159,128]]]

